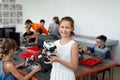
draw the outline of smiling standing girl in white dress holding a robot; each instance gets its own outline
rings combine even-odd
[[[71,17],[63,17],[59,33],[61,39],[54,42],[56,56],[50,56],[52,63],[50,80],[75,80],[74,70],[78,67],[78,45],[71,39],[74,30],[74,21]]]

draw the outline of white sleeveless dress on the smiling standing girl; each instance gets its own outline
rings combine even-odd
[[[61,45],[60,40],[54,42],[57,47],[57,57],[62,60],[71,61],[71,47],[75,41],[70,40],[68,43]],[[75,74],[72,69],[60,64],[59,62],[53,62],[50,80],[75,80]]]

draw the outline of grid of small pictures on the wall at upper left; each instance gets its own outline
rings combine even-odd
[[[0,26],[10,27],[23,24],[22,5],[16,0],[2,0],[0,3]]]

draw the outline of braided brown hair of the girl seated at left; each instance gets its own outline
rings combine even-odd
[[[4,55],[8,55],[11,49],[16,49],[17,44],[13,39],[4,38],[0,44],[0,60],[2,60]]]

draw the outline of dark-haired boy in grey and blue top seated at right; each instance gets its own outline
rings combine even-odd
[[[90,48],[87,52],[88,54],[96,54],[100,59],[110,59],[111,52],[109,48],[105,45],[107,37],[104,35],[99,35],[96,37],[96,44],[93,48]]]

